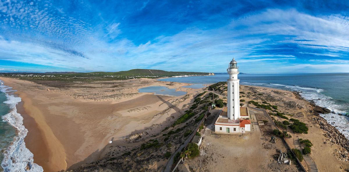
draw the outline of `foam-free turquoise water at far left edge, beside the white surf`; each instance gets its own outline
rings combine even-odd
[[[8,105],[3,103],[6,101],[6,95],[5,93],[0,92],[0,162],[3,160],[3,151],[9,146],[9,144],[13,141],[14,137],[16,136],[16,130],[7,122],[3,122],[2,116],[6,115],[10,112],[10,108]],[[2,168],[0,166],[0,171],[2,171]]]

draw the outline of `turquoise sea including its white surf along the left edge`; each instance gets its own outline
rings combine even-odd
[[[23,126],[23,117],[17,113],[16,105],[21,98],[13,92],[0,80],[0,171],[42,172],[42,167],[34,163],[33,154],[25,147],[28,130]]]

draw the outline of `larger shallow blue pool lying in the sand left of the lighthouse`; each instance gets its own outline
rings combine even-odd
[[[140,93],[155,93],[160,95],[181,96],[185,95],[184,91],[176,91],[176,88],[167,88],[164,86],[150,86],[138,89]]]

